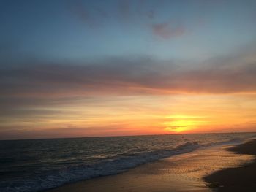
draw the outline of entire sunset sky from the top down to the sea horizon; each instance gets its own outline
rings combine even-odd
[[[256,131],[256,1],[0,1],[0,139]]]

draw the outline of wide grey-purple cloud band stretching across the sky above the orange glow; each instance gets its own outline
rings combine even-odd
[[[248,59],[247,59],[248,60]],[[109,58],[97,64],[27,64],[0,69],[1,98],[256,91],[256,61],[215,58],[177,64],[153,58]],[[219,65],[222,64],[222,65]]]

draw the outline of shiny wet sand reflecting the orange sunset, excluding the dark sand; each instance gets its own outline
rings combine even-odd
[[[227,147],[230,146],[195,150],[144,164],[121,174],[67,184],[48,192],[213,191],[213,188],[208,187],[211,184],[206,183],[218,182],[213,179],[216,178],[213,172],[238,167],[254,159],[254,155],[234,153],[226,150]]]

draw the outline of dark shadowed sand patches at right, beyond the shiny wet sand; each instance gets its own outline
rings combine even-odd
[[[236,154],[256,155],[256,139],[228,149]],[[223,169],[204,177],[218,191],[256,191],[256,158],[243,166]]]

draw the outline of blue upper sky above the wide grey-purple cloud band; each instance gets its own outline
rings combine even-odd
[[[255,6],[255,1],[1,1],[1,43],[14,54],[50,61],[126,55],[197,61],[254,41]]]

